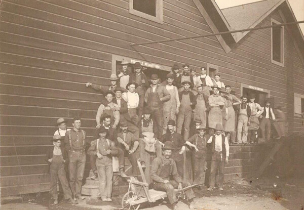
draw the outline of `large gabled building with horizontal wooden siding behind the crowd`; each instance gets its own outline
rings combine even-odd
[[[153,4],[139,0],[1,1],[2,196],[49,189],[44,155],[56,119],[80,115],[82,127],[92,137],[103,96],[88,90],[85,83],[109,83],[107,78],[121,68],[123,57],[130,63],[142,62],[145,72],[158,72],[162,78],[174,63],[188,63],[197,70],[206,66],[210,75],[220,72],[238,97],[255,92],[261,104],[273,98],[275,106],[282,106],[288,115],[290,131],[304,132],[304,38],[298,25],[129,45],[293,22],[287,0],[224,10],[214,0],[149,2]],[[231,173],[242,174],[245,169],[250,170],[250,165],[239,164]]]

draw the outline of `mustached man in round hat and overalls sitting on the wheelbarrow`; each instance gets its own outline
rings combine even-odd
[[[166,191],[173,210],[177,210],[177,198],[174,193],[174,188],[182,189],[190,184],[184,183],[178,175],[175,161],[171,158],[172,150],[174,150],[173,143],[171,141],[165,142],[163,155],[156,157],[152,162],[150,176],[153,180],[153,188],[155,190]],[[174,180],[170,180],[170,176],[172,176]],[[193,198],[195,197],[193,190],[188,189],[185,191],[185,194],[187,199],[191,201],[189,208],[193,208]]]

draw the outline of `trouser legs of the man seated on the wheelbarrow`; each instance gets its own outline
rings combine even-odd
[[[190,183],[188,182],[183,182],[182,187],[187,187],[190,186]],[[167,197],[169,199],[170,204],[177,202],[176,195],[174,193],[174,188],[178,187],[178,183],[174,180],[170,180],[170,183],[159,183],[159,182],[154,182],[153,188],[155,190],[160,190],[160,191],[165,191],[167,192]],[[187,199],[192,199],[195,197],[195,194],[192,189],[188,189],[185,191],[185,194],[187,196]]]

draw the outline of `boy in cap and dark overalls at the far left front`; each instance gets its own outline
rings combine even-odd
[[[51,190],[50,193],[55,199],[54,204],[58,204],[58,192],[57,192],[57,180],[59,178],[63,195],[65,199],[68,199],[69,203],[77,204],[76,201],[72,199],[72,193],[68,186],[68,181],[66,179],[66,174],[64,170],[64,164],[67,159],[67,154],[63,148],[61,148],[61,136],[54,135],[52,142],[54,147],[51,147],[47,152],[47,161],[49,163],[49,172],[51,177]]]

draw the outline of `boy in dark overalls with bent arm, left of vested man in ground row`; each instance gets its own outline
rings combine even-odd
[[[198,133],[189,138],[185,144],[191,148],[192,152],[192,171],[193,171],[193,185],[203,184],[203,176],[206,171],[206,154],[207,154],[207,139],[206,139],[206,129],[200,125],[197,128]],[[187,167],[187,165],[186,165]],[[201,187],[199,187],[201,188]]]

